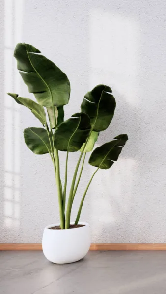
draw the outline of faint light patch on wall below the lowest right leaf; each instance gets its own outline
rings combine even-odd
[[[118,163],[115,162],[110,169],[99,169],[95,174],[88,191],[91,200],[91,225],[95,226],[95,235],[100,236],[104,230],[107,234],[108,226],[130,211],[133,172],[136,167],[136,160],[119,157]],[[94,168],[90,167],[90,174],[93,172]]]

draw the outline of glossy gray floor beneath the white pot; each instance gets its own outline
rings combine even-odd
[[[55,265],[41,251],[0,252],[0,294],[166,294],[165,251],[91,251]]]

